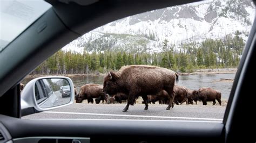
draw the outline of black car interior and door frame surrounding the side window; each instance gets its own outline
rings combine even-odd
[[[10,56],[16,59],[10,61],[6,69],[1,67],[4,76],[0,77],[0,142],[237,142],[239,139],[255,141],[252,134],[255,126],[255,121],[252,120],[254,108],[253,103],[250,103],[254,101],[250,84],[254,85],[255,81],[255,20],[235,76],[223,123],[21,119],[19,82],[61,47],[113,20],[196,1],[46,2],[50,3],[52,8],[11,42],[1,54],[0,59]]]

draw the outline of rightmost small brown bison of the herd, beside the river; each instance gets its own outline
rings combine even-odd
[[[221,92],[219,90],[215,90],[212,88],[200,88],[197,91],[193,91],[194,101],[197,103],[197,101],[202,101],[203,105],[207,105],[207,101],[212,101],[213,105],[215,105],[217,101],[221,105]]]

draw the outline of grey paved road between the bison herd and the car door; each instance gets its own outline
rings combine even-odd
[[[149,110],[144,110],[144,104],[130,106],[127,112],[122,112],[126,104],[87,104],[73,103],[63,108],[36,113],[23,117],[24,119],[137,119],[137,120],[203,120],[221,122],[226,106],[219,105],[174,105],[171,110],[165,110],[167,105],[149,104]]]

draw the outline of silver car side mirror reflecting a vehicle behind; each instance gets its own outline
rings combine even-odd
[[[70,105],[75,99],[69,77],[38,77],[28,82],[21,93],[22,116]]]

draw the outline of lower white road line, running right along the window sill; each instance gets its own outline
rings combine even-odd
[[[120,121],[176,121],[176,122],[197,122],[197,123],[222,123],[222,121],[209,121],[209,120],[138,120],[138,119],[29,119],[29,120],[120,120]]]

